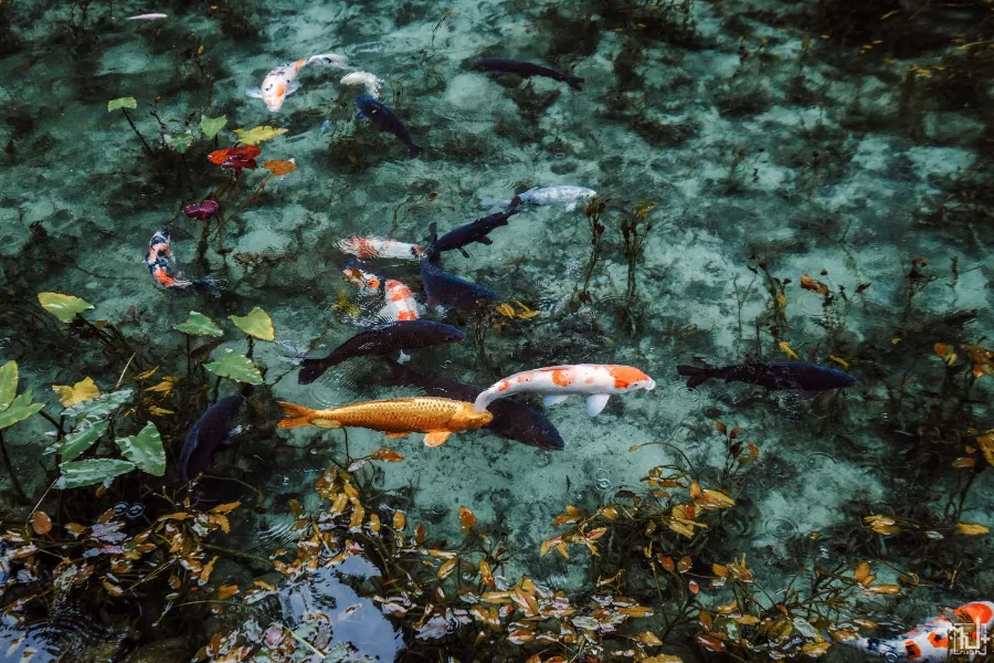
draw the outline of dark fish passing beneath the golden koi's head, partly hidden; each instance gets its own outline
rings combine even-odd
[[[483,391],[479,387],[446,380],[435,376],[425,376],[410,368],[405,368],[396,361],[387,361],[389,370],[379,375],[381,383],[393,387],[413,386],[424,390],[425,396],[436,396],[473,402]],[[544,449],[546,451],[562,451],[565,443],[552,422],[544,414],[532,410],[525,403],[504,398],[489,404],[489,411],[494,414],[493,421],[484,428],[495,435],[514,440],[528,446]]]

